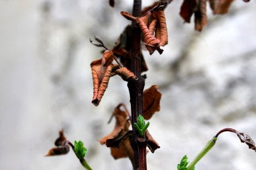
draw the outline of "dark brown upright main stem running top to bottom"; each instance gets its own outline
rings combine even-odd
[[[133,16],[141,16],[141,0],[134,0]],[[138,77],[137,81],[128,82],[131,103],[131,124],[133,125],[133,139],[131,146],[134,151],[134,169],[146,170],[146,139],[140,138],[138,131],[134,128],[134,123],[137,122],[139,114],[143,115],[143,88],[144,79],[141,76],[141,29],[138,28],[137,22],[132,23],[131,31],[131,71]]]

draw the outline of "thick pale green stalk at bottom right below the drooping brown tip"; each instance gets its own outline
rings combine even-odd
[[[213,137],[207,145],[201,150],[201,152],[196,156],[196,158],[188,165],[188,170],[191,170],[195,165],[210,151],[210,149],[215,145],[217,141],[216,137]]]

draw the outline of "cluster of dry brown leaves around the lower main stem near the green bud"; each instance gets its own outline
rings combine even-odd
[[[155,112],[160,111],[161,94],[158,91],[158,86],[151,86],[143,92],[143,116],[146,120],[150,119]],[[124,104],[119,104],[113,112],[115,117],[115,126],[111,133],[101,138],[99,142],[107,147],[110,147],[111,154],[114,159],[128,157],[131,162],[134,162],[133,148],[131,147],[130,139],[133,135],[129,130],[130,121],[127,120],[127,111],[120,109]],[[145,133],[147,147],[151,152],[154,152],[160,146],[152,138],[148,130]]]

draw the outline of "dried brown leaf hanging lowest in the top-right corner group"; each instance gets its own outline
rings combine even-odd
[[[199,0],[198,5],[195,11],[195,29],[201,31],[207,24],[207,0]]]

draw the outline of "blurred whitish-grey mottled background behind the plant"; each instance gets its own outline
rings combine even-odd
[[[143,1],[143,6],[153,1]],[[218,130],[234,128],[256,139],[256,1],[234,1],[229,14],[213,16],[201,33],[179,16],[182,1],[166,9],[169,44],[160,56],[144,51],[146,88],[162,92],[161,111],[149,130],[161,148],[147,154],[148,169],[176,169]],[[133,1],[0,1],[0,169],[83,169],[73,154],[45,158],[64,129],[84,141],[93,169],[131,169],[129,159],[114,160],[97,139],[114,126],[109,120],[120,102],[129,105],[126,82],[118,76],[98,107],[90,62],[111,48],[130,22],[119,15]],[[192,19],[193,20],[193,19]],[[224,133],[196,169],[255,169],[256,154],[236,134]]]

